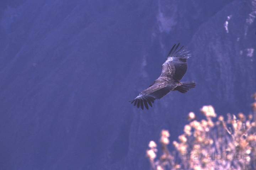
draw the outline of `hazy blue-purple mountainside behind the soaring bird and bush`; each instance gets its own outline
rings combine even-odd
[[[146,170],[188,112],[249,113],[255,16],[255,0],[1,0],[0,169]],[[197,87],[133,107],[177,42]]]

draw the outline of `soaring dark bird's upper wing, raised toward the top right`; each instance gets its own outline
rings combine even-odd
[[[166,61],[162,64],[162,73],[160,77],[173,78],[175,80],[181,80],[183,75],[187,71],[187,59],[191,56],[189,51],[184,48],[174,45],[169,52]]]

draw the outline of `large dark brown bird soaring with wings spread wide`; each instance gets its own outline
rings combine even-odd
[[[156,99],[160,99],[167,95],[170,91],[179,91],[186,93],[188,90],[194,88],[196,83],[194,81],[180,81],[187,71],[187,59],[191,57],[189,51],[174,45],[169,52],[166,61],[162,64],[162,73],[158,79],[154,81],[148,89],[142,91],[134,100],[130,101],[137,108],[148,109],[148,105],[152,107],[152,103]]]

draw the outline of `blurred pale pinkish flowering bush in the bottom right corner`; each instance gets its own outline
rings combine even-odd
[[[247,117],[227,114],[217,117],[212,106],[203,106],[206,117],[198,121],[193,112],[188,114],[190,123],[184,126],[179,141],[172,144],[175,151],[168,149],[169,132],[162,130],[160,143],[162,152],[157,159],[157,145],[149,142],[146,151],[151,168],[154,170],[245,170],[256,169],[256,94],[253,96],[253,115]]]

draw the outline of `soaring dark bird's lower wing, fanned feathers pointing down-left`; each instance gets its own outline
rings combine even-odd
[[[148,109],[149,106],[152,107],[152,103],[154,103],[154,100],[160,99],[167,95],[172,90],[171,86],[159,86],[158,83],[153,84],[148,89],[142,91],[134,100],[130,101],[131,103],[134,103],[134,106],[137,105],[137,108],[144,109],[144,106],[146,109]]]

